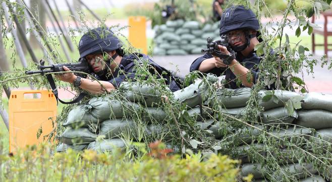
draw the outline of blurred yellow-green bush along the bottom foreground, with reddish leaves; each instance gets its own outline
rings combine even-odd
[[[0,146],[0,181],[236,181],[236,160],[214,154],[204,161],[201,154],[168,156],[172,150],[162,146],[151,144],[150,153],[132,160],[119,151],[50,155],[45,144],[8,156]]]

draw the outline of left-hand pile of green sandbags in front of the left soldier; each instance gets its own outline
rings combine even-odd
[[[76,106],[63,124],[66,130],[60,137],[57,151],[68,148],[109,151],[125,147],[121,140],[124,134],[135,140],[142,130],[147,136],[170,132],[162,128],[162,124],[171,117],[163,110],[165,102],[185,104],[189,116],[203,119],[202,109],[196,107],[205,101],[203,96],[207,89],[201,80],[174,93],[166,90],[167,94],[163,94],[156,87],[123,82],[117,92],[91,98],[87,103]],[[206,115],[204,117],[208,117]],[[96,141],[97,138],[102,140]]]

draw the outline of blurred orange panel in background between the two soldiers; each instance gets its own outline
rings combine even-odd
[[[147,54],[146,19],[145,17],[129,17],[129,42],[141,52]]]

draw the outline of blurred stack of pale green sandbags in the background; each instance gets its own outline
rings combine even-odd
[[[174,20],[154,27],[154,55],[201,54],[207,37],[220,39],[219,22],[201,25],[197,21]]]

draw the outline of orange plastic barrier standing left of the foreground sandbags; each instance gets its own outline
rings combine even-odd
[[[48,90],[13,90],[9,99],[9,150],[38,144],[53,130],[57,100]],[[38,130],[42,134],[37,139]]]

